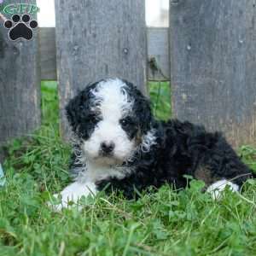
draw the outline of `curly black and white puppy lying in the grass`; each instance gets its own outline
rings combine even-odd
[[[130,199],[149,186],[184,188],[185,174],[203,180],[217,198],[227,185],[238,191],[254,176],[220,133],[177,119],[156,121],[148,99],[125,80],[88,85],[68,103],[67,119],[77,141],[74,182],[61,192],[58,209],[102,189]]]

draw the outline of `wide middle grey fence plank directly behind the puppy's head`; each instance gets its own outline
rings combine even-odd
[[[90,82],[119,77],[146,92],[144,0],[56,0],[57,74],[61,131],[64,108]]]

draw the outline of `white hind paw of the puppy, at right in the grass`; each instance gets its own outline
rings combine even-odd
[[[226,179],[223,179],[219,180],[216,183],[212,183],[212,185],[208,187],[207,192],[212,195],[213,200],[218,200],[221,198],[221,194],[227,186],[233,192],[237,192],[239,190],[238,185],[236,185],[235,183],[231,183]]]

